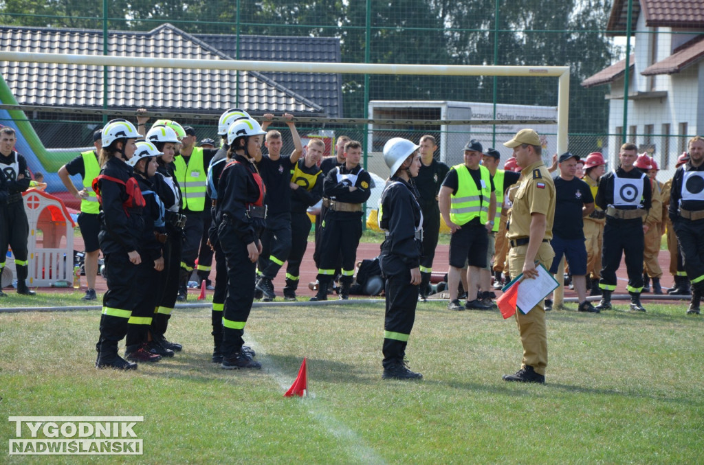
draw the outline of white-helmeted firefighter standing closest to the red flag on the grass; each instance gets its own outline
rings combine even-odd
[[[254,300],[256,262],[261,253],[266,189],[254,160],[261,156],[265,132],[251,118],[236,120],[227,130],[229,161],[218,181],[217,215],[213,227],[227,260],[227,298],[222,315],[222,369],[260,369],[242,350],[244,326]],[[211,238],[212,241],[212,238]]]

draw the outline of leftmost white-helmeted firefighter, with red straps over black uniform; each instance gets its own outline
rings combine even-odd
[[[137,266],[142,262],[138,249],[144,227],[144,197],[132,177],[132,167],[127,165],[138,137],[137,128],[129,121],[108,122],[103,128],[102,169],[93,183],[101,207],[98,239],[105,257],[108,284],[96,345],[97,368],[137,369],[136,363],[118,355],[118,342],[127,334],[127,321],[137,302],[133,286]]]

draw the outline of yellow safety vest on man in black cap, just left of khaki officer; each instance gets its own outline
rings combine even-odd
[[[486,224],[489,221],[491,201],[489,170],[479,165],[483,184],[482,190],[479,190],[470,170],[463,163],[453,166],[452,169],[457,172],[457,193],[450,196],[450,221],[462,226],[479,217],[479,222]],[[482,196],[481,201],[479,196]]]

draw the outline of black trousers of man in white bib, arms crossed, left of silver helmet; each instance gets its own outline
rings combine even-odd
[[[332,212],[325,214],[320,228],[320,267],[318,282],[329,283],[334,279],[335,267],[342,255],[341,284],[352,284],[357,260],[357,247],[362,237],[362,220],[356,212]],[[417,293],[415,298],[417,298]]]

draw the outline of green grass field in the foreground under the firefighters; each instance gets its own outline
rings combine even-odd
[[[144,455],[127,459],[149,464],[704,460],[704,320],[684,304],[551,312],[545,386],[501,381],[520,365],[513,319],[444,305],[418,306],[408,357],[425,378],[410,383],[381,379],[383,304],[253,309],[261,371],[210,363],[207,309],[175,310],[168,336],[184,352],[128,373],[93,367],[99,312],[0,313],[1,447],[15,437],[8,416],[125,415],[144,416]],[[283,397],[303,357],[310,395]]]

